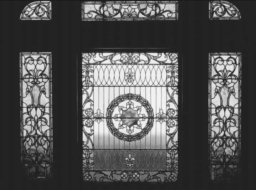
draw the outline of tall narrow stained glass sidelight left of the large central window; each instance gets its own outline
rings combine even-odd
[[[51,53],[20,53],[21,161],[26,178],[50,179]]]

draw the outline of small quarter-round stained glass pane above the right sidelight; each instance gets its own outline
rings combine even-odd
[[[209,18],[213,19],[241,19],[239,10],[227,1],[209,1]]]

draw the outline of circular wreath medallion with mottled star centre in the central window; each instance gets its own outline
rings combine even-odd
[[[153,127],[153,109],[140,94],[124,94],[114,99],[107,108],[107,126],[121,140],[143,138]]]

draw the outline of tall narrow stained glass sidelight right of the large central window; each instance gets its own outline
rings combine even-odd
[[[234,179],[240,174],[241,54],[209,56],[210,176]]]

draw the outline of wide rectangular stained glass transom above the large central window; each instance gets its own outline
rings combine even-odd
[[[82,3],[82,20],[177,20],[177,1],[90,1]]]

